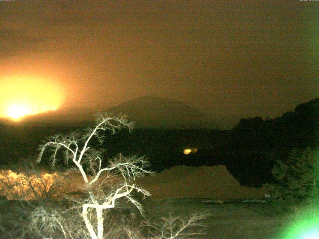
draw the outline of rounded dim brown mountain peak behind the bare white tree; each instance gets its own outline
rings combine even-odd
[[[108,110],[114,115],[127,115],[137,128],[213,128],[207,116],[188,105],[169,98],[139,97]]]

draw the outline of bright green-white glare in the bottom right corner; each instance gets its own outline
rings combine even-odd
[[[319,239],[319,218],[305,218],[294,223],[280,239]]]

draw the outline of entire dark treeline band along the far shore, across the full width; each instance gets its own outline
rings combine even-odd
[[[0,124],[0,163],[34,160],[47,136],[77,128]],[[271,182],[275,162],[285,160],[292,149],[316,148],[318,132],[319,99],[315,99],[277,119],[241,119],[232,130],[123,130],[108,135],[102,147],[109,158],[119,152],[146,155],[157,172],[176,165],[226,165],[242,185],[260,187]],[[185,148],[198,151],[184,155]]]

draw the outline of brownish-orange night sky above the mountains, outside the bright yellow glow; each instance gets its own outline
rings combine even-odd
[[[64,107],[151,95],[274,118],[318,97],[319,1],[0,0],[0,84],[17,76]]]

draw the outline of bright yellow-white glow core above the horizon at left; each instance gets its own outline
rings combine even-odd
[[[0,118],[18,121],[28,115],[56,110],[62,100],[61,90],[52,81],[30,76],[0,79]]]

